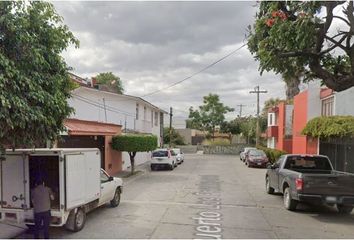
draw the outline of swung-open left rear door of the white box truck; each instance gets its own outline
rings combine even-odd
[[[1,207],[27,208],[30,203],[28,155],[8,154],[0,166]]]

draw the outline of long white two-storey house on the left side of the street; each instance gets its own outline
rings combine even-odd
[[[75,112],[71,118],[122,125],[122,132],[150,133],[163,143],[165,111],[140,97],[102,91],[82,86],[72,91],[69,105]],[[150,153],[138,153],[136,164],[150,159]],[[130,166],[127,153],[123,153],[123,170]]]

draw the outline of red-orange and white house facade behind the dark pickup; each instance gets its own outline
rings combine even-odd
[[[308,84],[307,88],[296,95],[293,111],[285,111],[284,103],[268,110],[268,147],[294,154],[323,154],[329,156],[335,169],[354,172],[353,139],[317,139],[301,132],[307,122],[319,116],[354,116],[354,88],[334,92],[321,86],[320,81]],[[283,114],[285,113],[285,115]],[[282,129],[288,129],[287,121],[292,118],[292,147],[287,148]],[[289,131],[289,130],[288,130]],[[286,134],[285,134],[286,136]]]

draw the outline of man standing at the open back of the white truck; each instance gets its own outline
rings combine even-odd
[[[44,238],[49,238],[50,224],[50,200],[54,200],[54,195],[49,187],[44,185],[43,178],[36,180],[35,187],[31,191],[31,199],[34,208],[34,238],[39,238],[41,228],[44,231]]]

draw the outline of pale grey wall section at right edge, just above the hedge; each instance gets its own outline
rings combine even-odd
[[[354,116],[354,87],[349,88],[343,92],[336,92],[334,103],[335,115]]]

